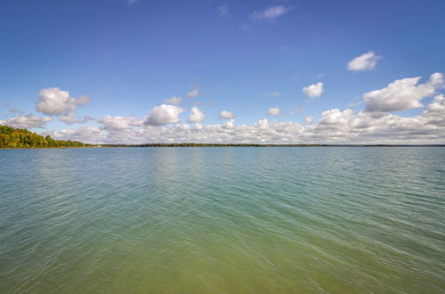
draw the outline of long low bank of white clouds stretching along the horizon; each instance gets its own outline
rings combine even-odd
[[[387,112],[326,110],[319,121],[295,122],[261,119],[254,125],[81,127],[61,130],[58,139],[86,143],[445,143],[445,97],[436,95],[421,115],[405,118]]]

